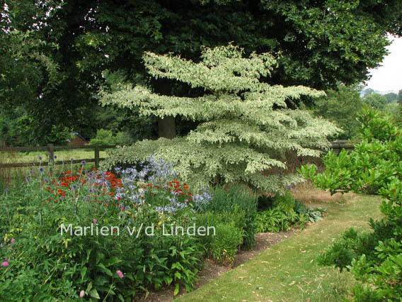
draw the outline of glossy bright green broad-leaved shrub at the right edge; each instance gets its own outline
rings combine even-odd
[[[379,111],[370,109],[364,110],[360,121],[363,141],[350,155],[329,154],[323,173],[316,175],[311,166],[302,167],[302,173],[332,193],[381,195],[384,218],[370,221],[372,233],[349,230],[319,261],[346,268],[362,281],[353,291],[356,301],[399,301],[402,298],[402,130]]]

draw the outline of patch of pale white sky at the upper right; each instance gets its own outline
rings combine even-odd
[[[389,55],[384,57],[380,67],[371,69],[372,78],[366,88],[379,91],[402,89],[402,38],[390,38],[394,42],[387,47]]]

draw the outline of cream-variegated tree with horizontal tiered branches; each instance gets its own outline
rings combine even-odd
[[[198,126],[183,138],[143,140],[117,147],[103,167],[127,166],[154,154],[175,164],[176,171],[197,187],[241,181],[269,192],[282,191],[302,180],[299,174],[264,176],[263,171],[287,168],[285,153],[318,157],[330,146],[326,137],[339,129],[289,104],[302,96],[324,93],[304,86],[270,85],[265,81],[277,64],[268,54],[234,45],[204,47],[200,62],[173,55],[144,54],[151,77],[166,78],[204,91],[197,97],[165,96],[146,86],[122,85],[101,91],[101,104],[137,107],[142,116],[178,117]]]

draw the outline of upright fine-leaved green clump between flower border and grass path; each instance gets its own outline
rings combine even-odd
[[[243,247],[253,247],[257,197],[250,194],[247,187],[233,185],[229,190],[223,187],[215,188],[212,190],[212,201],[202,207],[202,211],[229,216],[234,220],[236,227],[243,231]]]

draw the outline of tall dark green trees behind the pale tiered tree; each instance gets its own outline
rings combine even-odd
[[[326,89],[328,99],[352,95],[345,86],[368,78],[386,55],[387,33],[401,35],[401,21],[398,0],[3,0],[1,136],[11,145],[42,145],[64,142],[72,131],[93,138],[111,130],[132,140],[188,133],[193,122],[98,105],[99,88],[119,89],[120,82],[158,94],[202,93],[149,78],[145,51],[197,62],[202,45],[233,42],[248,54],[275,55],[279,68],[270,84]],[[294,108],[302,104],[314,106],[308,97],[289,100]]]

